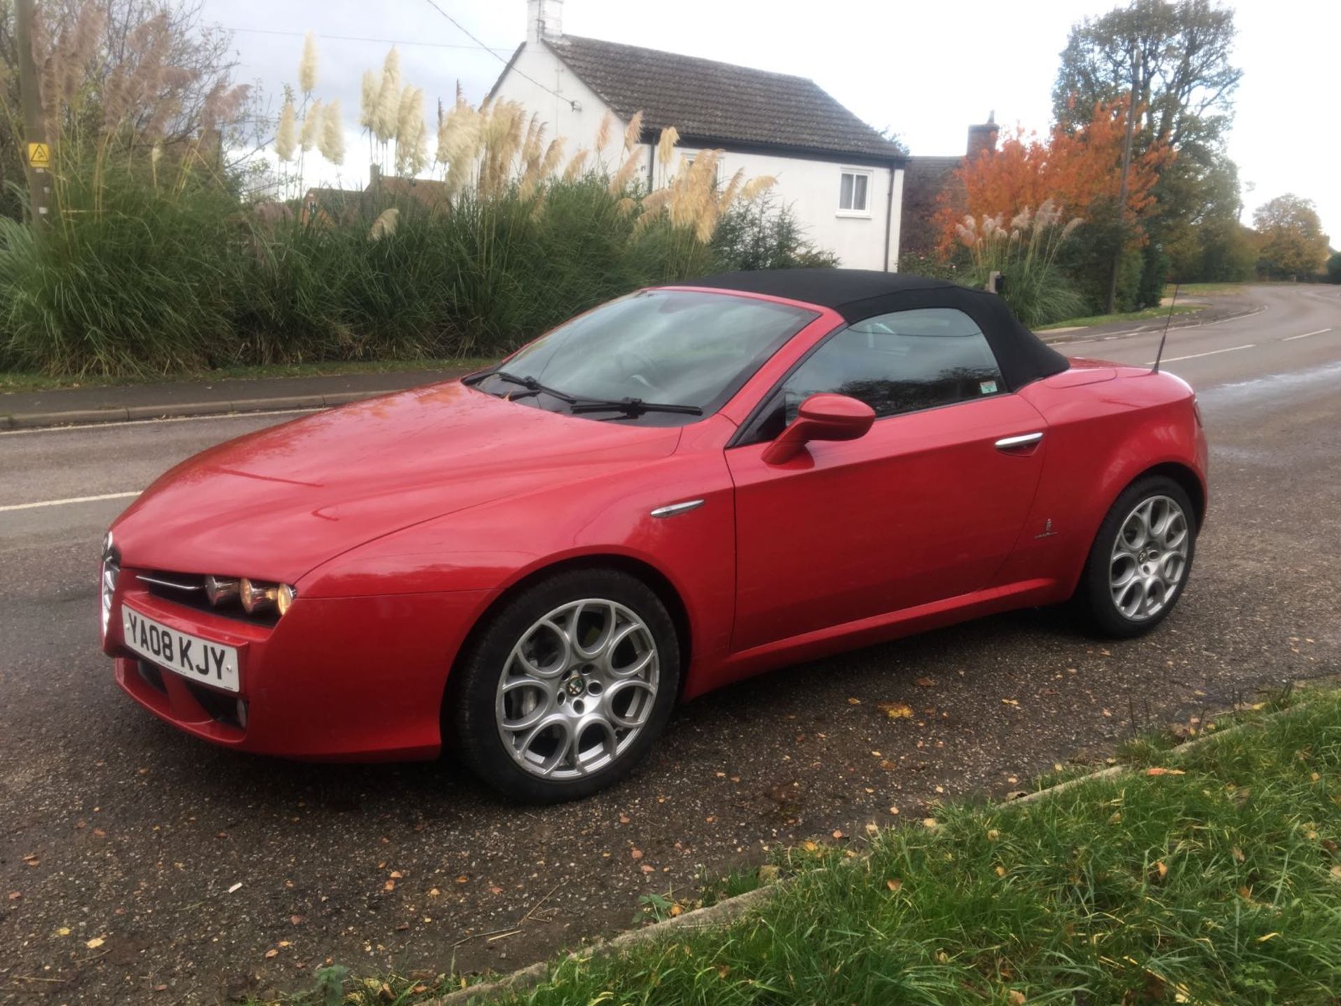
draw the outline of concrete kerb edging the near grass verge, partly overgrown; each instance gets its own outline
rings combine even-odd
[[[1310,683],[1298,683],[1299,687],[1306,687]],[[1265,720],[1273,720],[1281,716],[1291,715],[1298,707],[1291,707],[1287,710],[1281,710],[1265,716],[1259,720],[1252,720],[1251,723],[1240,723],[1224,730],[1219,730],[1211,734],[1203,732],[1202,736],[1192,738],[1181,744],[1179,744],[1171,754],[1181,755],[1184,751],[1191,751],[1202,744],[1215,743],[1220,738],[1232,736],[1236,732],[1258,728]],[[1121,775],[1139,775],[1140,769],[1114,765],[1108,769],[1100,769],[1098,771],[1086,773],[1085,775],[1078,775],[1074,779],[1066,779],[1055,786],[1049,786],[1042,790],[1035,790],[1034,793],[1027,793],[1023,797],[1016,797],[1015,799],[1004,801],[1000,806],[1016,806],[1019,803],[1031,803],[1047,797],[1054,797],[1058,793],[1063,793],[1069,789],[1074,789],[1086,782],[1093,782],[1096,779],[1109,779]],[[857,860],[850,860],[849,862],[858,862]],[[740,916],[750,911],[754,911],[772,897],[784,885],[793,883],[791,880],[782,880],[775,884],[768,884],[766,887],[755,888],[754,891],[747,891],[736,897],[728,897],[723,901],[717,901],[707,908],[699,908],[692,912],[685,912],[684,915],[676,916],[675,919],[666,919],[665,921],[654,923],[652,926],[645,926],[641,930],[630,930],[622,932],[607,940],[595,940],[582,950],[566,954],[558,963],[562,964],[569,960],[591,959],[595,956],[606,956],[611,952],[624,950],[626,947],[633,947],[641,943],[652,943],[660,940],[665,936],[673,935],[677,930],[683,928],[705,928],[709,926],[725,926],[735,921]],[[508,993],[523,991],[526,989],[532,989],[540,982],[546,981],[554,967],[558,964],[550,960],[539,960],[530,967],[523,967],[519,971],[511,971],[502,978],[492,982],[481,982],[480,985],[472,985],[465,989],[457,989],[456,991],[441,995],[436,999],[429,999],[421,1006],[465,1006],[465,1003],[483,1003],[496,999]]]

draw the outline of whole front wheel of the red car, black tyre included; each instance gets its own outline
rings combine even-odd
[[[453,671],[444,719],[489,786],[534,803],[578,799],[642,759],[679,679],[656,593],[618,570],[570,570],[489,617]]]

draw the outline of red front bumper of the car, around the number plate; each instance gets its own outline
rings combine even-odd
[[[266,626],[156,597],[137,573],[121,570],[103,640],[117,684],[156,716],[212,743],[316,761],[436,757],[448,672],[491,600],[483,590],[300,597]],[[121,628],[127,600],[178,632],[236,647],[240,691],[189,680],[127,649]]]

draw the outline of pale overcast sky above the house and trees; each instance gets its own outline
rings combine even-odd
[[[275,98],[298,76],[302,35],[318,34],[316,94],[339,98],[349,127],[343,168],[308,156],[308,184],[361,185],[366,139],[357,138],[359,78],[381,67],[389,42],[406,83],[424,87],[433,126],[437,98],[457,80],[472,102],[493,83],[524,38],[526,0],[205,0],[211,20],[232,28],[241,66]],[[956,154],[964,130],[992,110],[1003,126],[1046,130],[1058,52],[1071,23],[1114,0],[565,0],[563,30],[708,59],[801,74],[877,129],[902,135],[913,154]],[[1244,71],[1230,156],[1252,208],[1285,192],[1317,203],[1341,245],[1341,3],[1240,0],[1235,59]],[[357,36],[354,40],[335,36]],[[1248,186],[1251,186],[1248,189]]]

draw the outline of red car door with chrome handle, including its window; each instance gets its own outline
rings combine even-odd
[[[858,440],[813,441],[789,461],[766,463],[767,444],[819,392],[865,401],[874,425]],[[963,311],[897,311],[827,337],[727,449],[732,648],[987,586],[1029,512],[1045,433]]]

